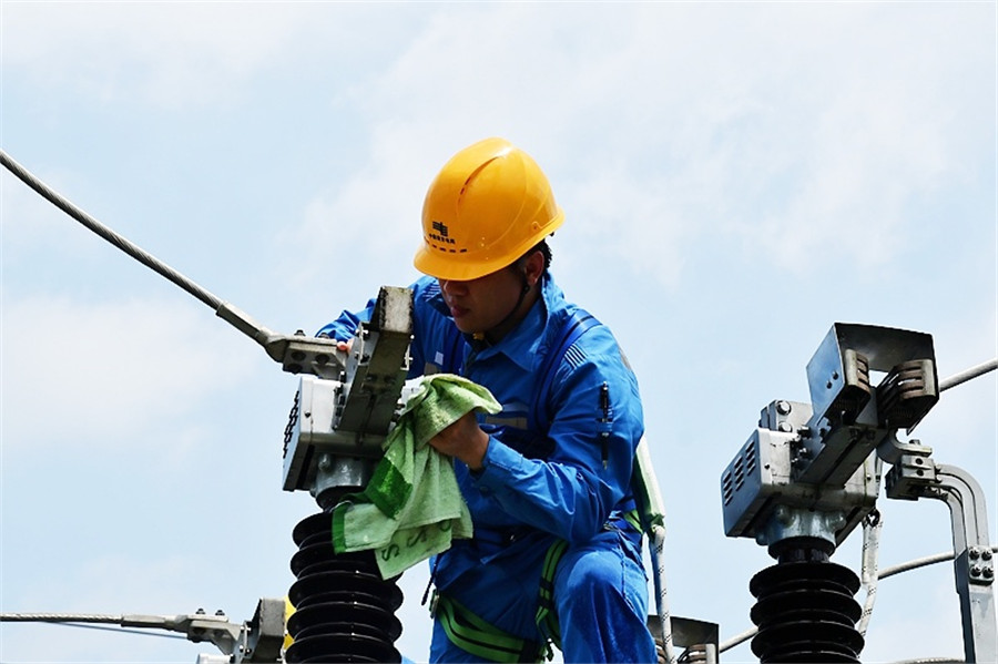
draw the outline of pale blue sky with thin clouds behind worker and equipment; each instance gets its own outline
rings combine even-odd
[[[772,560],[724,537],[721,473],[760,409],[808,400],[831,326],[929,333],[940,377],[998,355],[994,2],[3,0],[0,38],[3,150],[282,331],[415,278],[454,152],[530,152],[567,214],[556,278],[639,376],[672,610],[722,640]],[[281,490],[296,379],[6,171],[0,194],[2,611],[251,617],[316,510]],[[981,483],[994,541],[995,374],[917,437]],[[878,507],[882,565],[951,549],[941,503]],[[416,661],[426,576],[401,580]],[[961,655],[950,565],[877,597],[865,662]],[[6,663],[212,652],[0,625]]]

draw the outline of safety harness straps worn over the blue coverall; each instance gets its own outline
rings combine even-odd
[[[549,401],[554,374],[564,359],[566,354],[579,337],[598,325],[600,325],[600,321],[583,309],[573,310],[564,321],[558,344],[553,347],[553,351],[547,355],[544,364],[540,368],[541,380],[528,415],[531,430],[547,431],[549,429],[551,417],[551,405]],[[457,327],[454,327],[454,333],[456,338],[449,339],[450,343],[448,344],[448,348],[451,349],[448,365],[450,370],[459,370],[464,355],[464,337]],[[637,511],[633,510],[633,505],[629,504],[625,507],[627,514],[624,519],[640,531]],[[559,650],[561,648],[561,630],[554,609],[554,573],[567,549],[568,542],[556,540],[548,548],[541,570],[536,622],[548,642],[537,642],[508,634],[478,617],[459,602],[447,595],[435,593],[431,611],[435,617],[440,621],[440,625],[450,642],[461,650],[490,662],[511,664],[516,662],[541,662],[544,657],[550,660],[552,652],[549,643]]]

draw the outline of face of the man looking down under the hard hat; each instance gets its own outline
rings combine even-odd
[[[458,329],[487,336],[508,320],[523,288],[521,273],[515,268],[503,268],[469,282],[439,279],[439,283],[444,302],[450,307]]]

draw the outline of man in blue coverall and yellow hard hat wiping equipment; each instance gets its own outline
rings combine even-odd
[[[430,561],[431,662],[654,662],[631,477],[638,382],[610,330],[550,272],[564,219],[522,150],[459,151],[426,194],[410,377],[460,374],[502,407],[430,441],[455,459],[475,534]],[[320,334],[346,343],[374,302]]]

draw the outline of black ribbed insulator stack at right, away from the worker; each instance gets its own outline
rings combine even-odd
[[[752,578],[752,652],[760,662],[859,662],[859,578],[825,556],[786,556]]]

